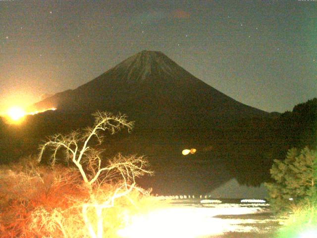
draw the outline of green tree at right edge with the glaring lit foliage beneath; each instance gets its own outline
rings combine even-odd
[[[292,148],[284,161],[274,160],[270,174],[268,200],[283,224],[276,237],[317,237],[317,151]]]

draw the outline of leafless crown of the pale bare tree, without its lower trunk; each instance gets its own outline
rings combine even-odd
[[[104,181],[118,178],[119,175],[125,184],[131,181],[134,183],[136,177],[144,174],[152,174],[151,171],[147,170],[148,161],[142,156],[125,157],[119,154],[108,161],[108,166],[102,168],[101,154],[103,150],[89,145],[92,138],[95,137],[98,144],[102,144],[104,140],[102,131],[108,130],[114,134],[127,127],[130,132],[133,122],[128,122],[125,115],[113,116],[107,112],[97,112],[93,116],[96,118],[94,127],[87,127],[84,132],[76,130],[67,135],[56,134],[49,137],[48,141],[40,146],[39,162],[42,160],[44,151],[50,148],[52,150],[51,163],[54,165],[57,161],[57,152],[63,150],[65,152],[64,160],[67,163],[69,161],[74,163],[90,189],[103,172],[106,173]]]

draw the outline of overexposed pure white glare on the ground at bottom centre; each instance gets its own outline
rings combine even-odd
[[[240,207],[238,204],[215,204],[206,207],[166,207],[134,216],[117,232],[121,238],[202,238],[227,232],[255,232],[253,219],[221,219],[217,215],[256,213],[260,208]]]

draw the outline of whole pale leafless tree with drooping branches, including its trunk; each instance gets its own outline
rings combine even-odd
[[[148,170],[149,163],[143,156],[123,156],[118,154],[111,160],[107,161],[105,167],[102,167],[103,150],[96,148],[102,144],[104,136],[101,132],[109,131],[111,134],[120,131],[126,127],[130,132],[133,122],[128,122],[125,115],[114,116],[106,112],[97,112],[93,114],[96,120],[93,127],[88,127],[83,131],[72,131],[67,135],[56,134],[48,138],[48,141],[40,146],[39,162],[42,160],[46,149],[51,149],[51,163],[54,165],[58,158],[58,151],[65,152],[64,160],[72,162],[79,170],[85,185],[90,192],[90,202],[83,204],[82,213],[84,222],[89,230],[90,236],[93,238],[102,238],[103,234],[103,217],[102,210],[114,206],[115,199],[126,196],[133,189],[138,189],[135,184],[135,178],[142,175],[152,175],[153,172]],[[95,146],[93,138],[97,141]],[[103,175],[103,176],[101,176]],[[100,179],[102,177],[102,179]],[[105,183],[107,181],[115,181],[115,190],[111,196],[98,202],[94,196],[94,184],[97,182]],[[132,201],[131,201],[132,202]],[[89,207],[95,208],[97,215],[97,231],[94,231],[93,224],[90,223],[87,215]]]

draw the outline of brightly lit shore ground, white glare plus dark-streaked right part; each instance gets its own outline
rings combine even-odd
[[[134,217],[118,235],[123,238],[271,238],[278,226],[267,203],[241,203],[240,199],[201,203],[202,200],[168,200],[165,207]]]

